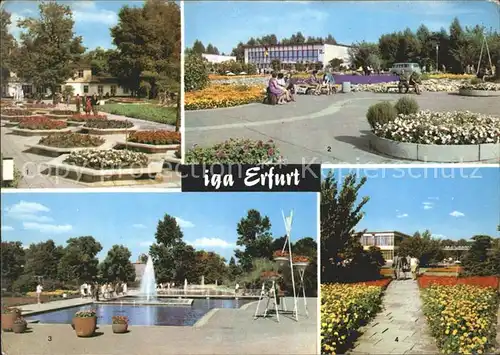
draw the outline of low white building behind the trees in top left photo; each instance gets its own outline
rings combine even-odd
[[[130,95],[127,89],[118,85],[118,80],[116,78],[92,75],[90,67],[80,67],[75,70],[74,77],[69,78],[63,85],[60,85],[56,91],[62,92],[64,86],[72,86],[73,94],[79,94],[80,96],[93,94],[104,96],[106,93],[108,93],[109,96]],[[22,88],[24,96],[31,96],[35,92],[42,92],[46,95],[51,94],[49,88],[35,88],[33,84],[18,78],[15,73],[10,73],[7,84],[2,87],[2,96],[13,97],[18,87]]]

